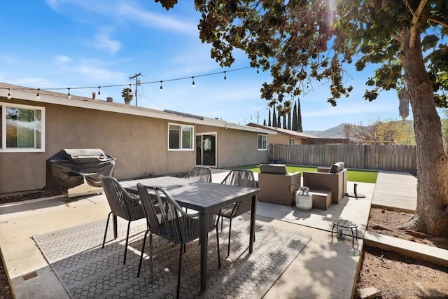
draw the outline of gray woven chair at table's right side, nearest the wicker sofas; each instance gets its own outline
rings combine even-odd
[[[232,169],[225,179],[221,182],[226,185],[233,186],[245,186],[257,188],[257,183],[255,182],[255,178],[253,176],[253,172],[251,170],[245,169]],[[251,210],[252,198],[248,197],[240,202],[236,202],[235,204],[230,204],[226,207],[223,207],[218,212],[218,222],[221,216],[221,231],[223,230],[223,218],[229,218],[229,244],[227,250],[227,256],[230,255],[230,234],[232,233],[232,218],[235,218],[241,214],[246,213],[246,211]],[[216,223],[216,233],[218,233],[218,223]]]

